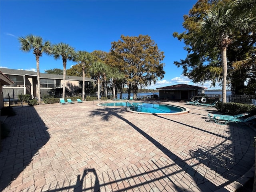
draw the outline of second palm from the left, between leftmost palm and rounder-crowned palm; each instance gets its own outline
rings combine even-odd
[[[52,47],[52,55],[54,59],[59,59],[60,56],[63,62],[63,89],[62,89],[62,97],[65,98],[65,87],[66,87],[66,65],[67,60],[72,60],[75,55],[75,50],[73,47],[68,44],[60,42],[59,44],[55,44]]]

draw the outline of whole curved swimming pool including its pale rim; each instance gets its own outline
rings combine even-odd
[[[188,109],[180,106],[174,106],[169,104],[159,104],[159,103],[148,103],[148,102],[107,102],[100,103],[98,106],[105,107],[115,107],[124,106],[126,110],[134,113],[142,114],[183,114],[188,113]]]

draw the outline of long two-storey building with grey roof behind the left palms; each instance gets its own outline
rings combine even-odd
[[[27,70],[15,70],[0,68],[14,84],[3,84],[2,95],[5,94],[29,94],[32,99],[37,96],[37,73]],[[82,93],[82,77],[66,76],[66,96],[78,95]],[[89,94],[96,84],[96,80],[85,78],[85,94]],[[53,95],[62,96],[63,75],[40,73],[40,93],[41,96]]]

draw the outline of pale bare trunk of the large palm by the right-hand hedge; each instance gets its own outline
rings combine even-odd
[[[221,61],[222,61],[222,104],[226,103],[226,85],[227,85],[227,48],[224,47],[221,50]]]

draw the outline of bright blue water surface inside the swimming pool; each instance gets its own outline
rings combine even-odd
[[[100,106],[126,106],[126,102],[101,103]],[[128,102],[128,108],[132,111],[143,113],[176,113],[184,111],[183,108],[165,104]]]

